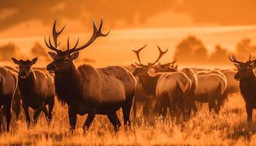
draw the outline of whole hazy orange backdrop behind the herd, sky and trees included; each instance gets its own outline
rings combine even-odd
[[[11,56],[39,56],[39,65],[47,64],[43,38],[54,20],[59,28],[67,24],[60,37],[64,49],[67,35],[72,44],[80,37],[81,45],[91,37],[93,18],[97,23],[104,18],[109,36],[81,51],[78,64],[132,64],[130,48],[147,43],[145,64],[157,58],[158,44],[170,48],[162,62],[176,58],[184,65],[227,66],[230,53],[241,60],[256,53],[255,7],[254,0],[0,0],[1,64],[10,64]]]

